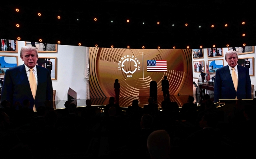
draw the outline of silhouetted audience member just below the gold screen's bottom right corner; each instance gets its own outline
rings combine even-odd
[[[180,109],[180,116],[182,119],[185,119],[187,121],[194,121],[197,117],[197,105],[194,102],[194,97],[188,96],[188,103],[185,103],[182,105],[182,108]]]

